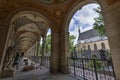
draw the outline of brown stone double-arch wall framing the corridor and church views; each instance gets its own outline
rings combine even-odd
[[[35,11],[42,13],[50,21],[52,27],[52,72],[67,72],[67,53],[68,49],[68,25],[72,15],[77,9],[85,4],[98,1],[103,10],[103,16],[107,27],[108,38],[112,50],[112,57],[115,66],[117,79],[120,79],[119,61],[120,61],[120,2],[119,0],[67,0],[66,3],[58,4],[57,0],[52,0],[54,4],[38,3],[37,0],[3,0],[0,5],[0,62],[6,51],[7,41],[9,39],[8,31],[13,16],[21,11]],[[63,1],[63,0],[62,0]],[[65,1],[65,0],[64,0]],[[3,3],[3,4],[2,4]],[[21,6],[22,5],[22,6]],[[12,12],[13,11],[13,12]],[[10,13],[12,13],[10,15]],[[62,26],[62,27],[61,27]],[[113,33],[112,33],[113,32]],[[3,53],[3,54],[2,54]],[[1,63],[2,64],[2,63]],[[1,71],[0,71],[1,72]]]

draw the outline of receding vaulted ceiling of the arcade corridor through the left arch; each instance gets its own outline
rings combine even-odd
[[[46,35],[48,26],[43,18],[35,14],[23,14],[13,20],[16,27],[15,36],[19,50],[26,51],[41,37]]]

